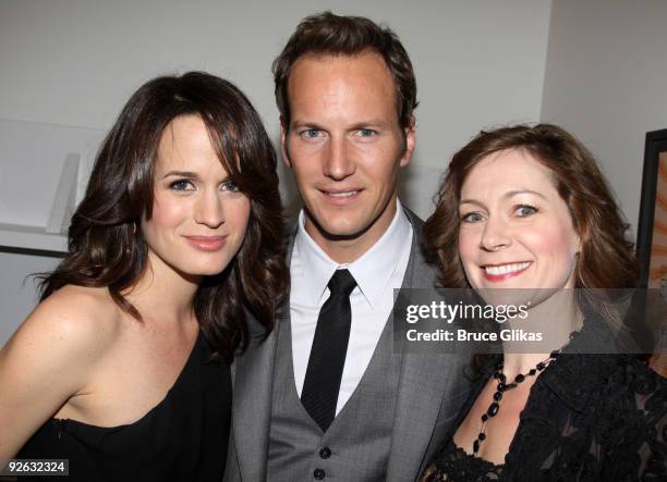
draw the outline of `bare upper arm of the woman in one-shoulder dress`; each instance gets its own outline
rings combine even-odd
[[[0,460],[85,386],[100,335],[90,296],[62,288],[40,304],[0,349]],[[95,318],[93,318],[95,320]]]

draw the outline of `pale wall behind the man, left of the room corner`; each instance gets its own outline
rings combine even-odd
[[[270,64],[298,22],[327,9],[365,15],[391,26],[414,64],[419,140],[403,194],[409,206],[427,215],[439,175],[457,148],[482,127],[538,119],[550,3],[0,0],[0,120],[107,129],[145,81],[205,70],[237,83],[277,140]],[[16,182],[29,190],[31,176],[39,173],[27,174]],[[293,191],[288,195],[289,201]],[[50,198],[41,190],[31,196],[45,206],[46,217]],[[0,193],[3,201],[23,212],[16,197],[3,199]],[[0,344],[33,307],[32,285],[21,287],[25,274],[52,263],[0,256]]]

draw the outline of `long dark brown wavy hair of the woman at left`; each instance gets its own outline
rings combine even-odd
[[[230,360],[248,343],[245,310],[268,332],[286,296],[283,215],[276,153],[259,115],[234,85],[203,72],[155,78],[130,98],[72,217],[69,252],[43,276],[41,299],[68,284],[107,287],[119,307],[142,320],[122,293],[147,268],[140,220],[153,214],[158,145],[173,119],[193,114],[204,121],[218,159],[251,202],[238,255],[223,272],[203,279],[193,301],[215,356]]]

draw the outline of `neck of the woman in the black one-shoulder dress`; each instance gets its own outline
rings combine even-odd
[[[149,251],[144,273],[124,296],[143,317],[160,323],[190,322],[201,280],[201,276],[178,272]]]

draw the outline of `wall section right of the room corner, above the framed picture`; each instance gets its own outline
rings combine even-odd
[[[646,132],[667,128],[667,1],[555,0],[542,120],[593,151],[636,230]]]

